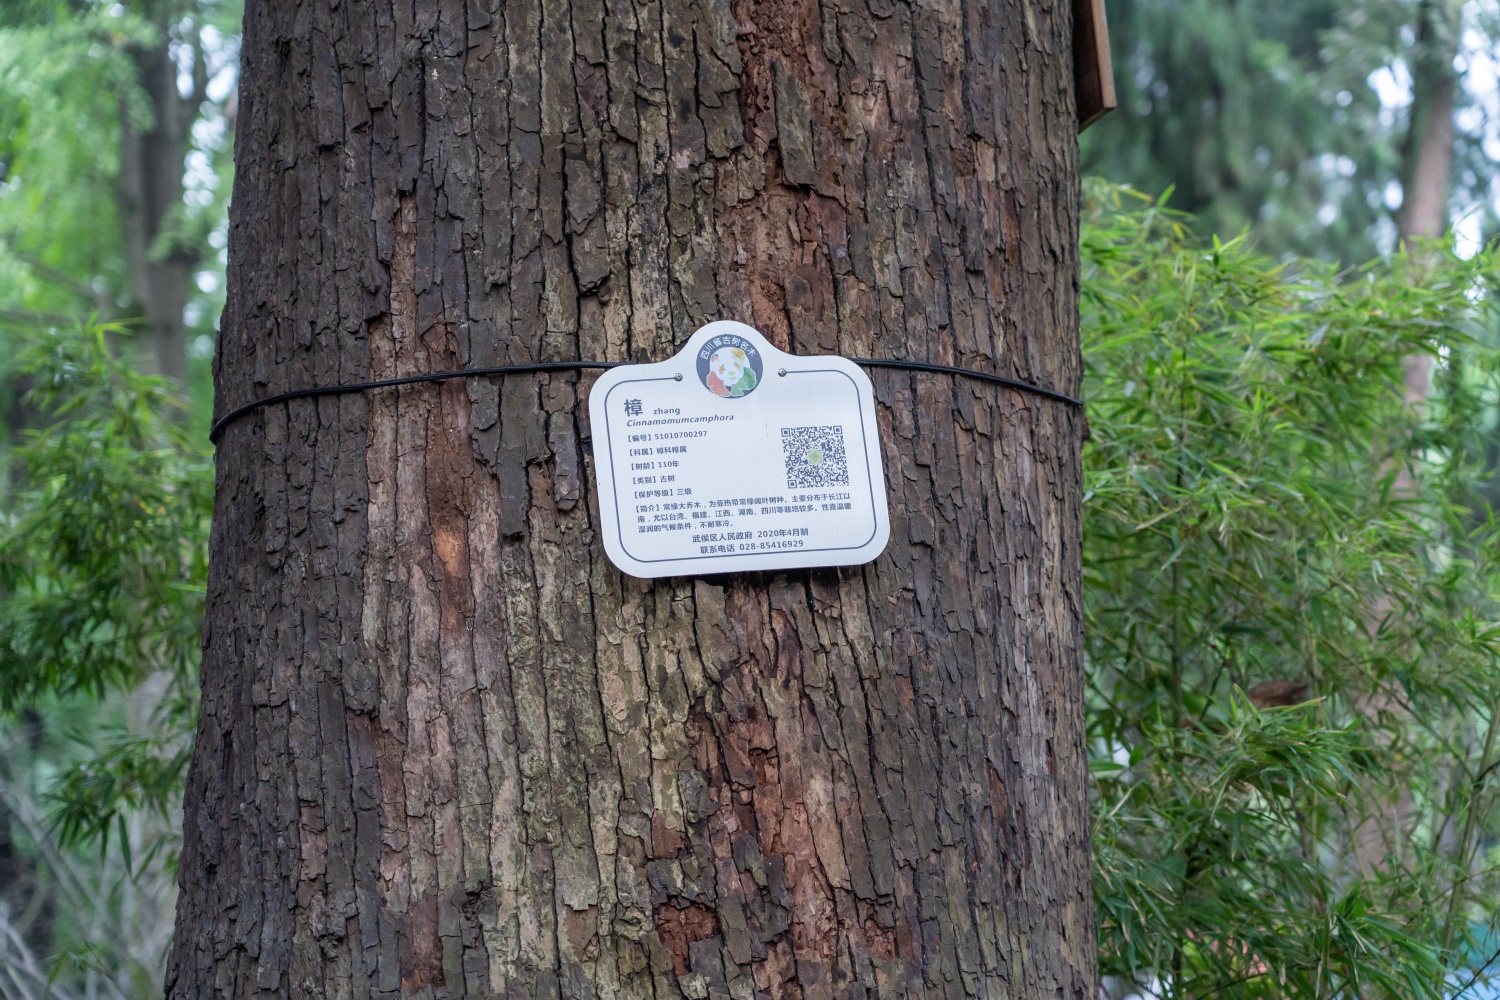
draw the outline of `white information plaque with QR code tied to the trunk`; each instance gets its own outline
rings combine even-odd
[[[638,577],[856,565],[891,535],[870,378],[711,322],[588,396],[600,531]]]

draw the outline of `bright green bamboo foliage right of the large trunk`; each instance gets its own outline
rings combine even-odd
[[[1275,264],[1102,186],[1088,217],[1102,970],[1454,996],[1500,888],[1494,261]]]

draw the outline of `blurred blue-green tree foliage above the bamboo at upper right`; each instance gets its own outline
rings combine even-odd
[[[1494,4],[1425,1],[1462,7],[1454,18],[1467,34],[1428,42],[1444,48],[1443,60],[1492,64],[1474,45],[1492,46]],[[1119,109],[1083,135],[1086,174],[1152,195],[1170,189],[1196,232],[1250,226],[1272,256],[1358,264],[1392,249],[1424,3],[1108,0],[1107,9]],[[1491,228],[1500,123],[1466,87],[1455,111],[1454,204]]]

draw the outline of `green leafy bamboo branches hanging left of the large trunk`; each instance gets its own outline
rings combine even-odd
[[[20,486],[0,526],[0,711],[162,681],[146,732],[96,732],[98,753],[51,790],[64,847],[117,832],[129,865],[128,814],[168,822],[178,808],[196,721],[213,465],[174,418],[170,385],[110,349],[117,333],[45,331],[15,361],[40,427],[12,451]]]

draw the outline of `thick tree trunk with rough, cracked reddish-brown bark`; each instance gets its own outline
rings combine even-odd
[[[220,412],[464,364],[1080,376],[1071,10],[246,3]],[[604,559],[590,376],[219,450],[170,997],[1092,996],[1082,415],[876,370],[874,564]]]

